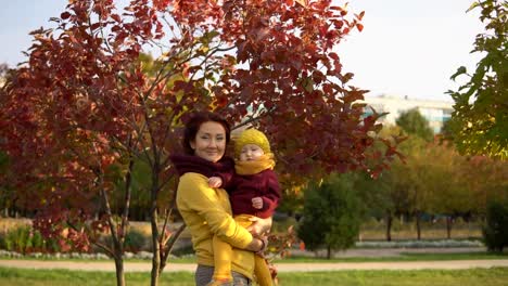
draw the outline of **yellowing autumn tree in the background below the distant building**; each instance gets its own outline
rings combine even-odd
[[[411,114],[415,116],[403,115],[401,116],[402,120],[399,120],[409,132],[412,132],[408,134],[407,140],[401,143],[398,148],[404,154],[404,160],[395,159],[390,169],[384,170],[378,180],[365,178],[361,187],[366,192],[363,200],[368,204],[369,209],[378,209],[377,212],[384,213],[386,240],[392,239],[391,227],[395,216],[414,217],[417,238],[420,239],[422,214],[434,211],[436,209],[435,203],[441,204],[440,206],[448,203],[435,202],[434,198],[445,192],[442,187],[454,186],[449,180],[456,177],[452,176],[450,172],[457,172],[457,169],[450,169],[452,166],[455,166],[453,153],[448,150],[442,150],[439,142],[427,142],[421,136],[415,135],[418,133],[415,130],[431,130],[424,125],[411,125],[412,121],[426,122],[418,112],[414,110]],[[417,120],[407,120],[408,117],[417,118]],[[415,126],[420,127],[415,128]],[[398,126],[386,127],[383,128],[381,135],[398,134],[401,129]],[[443,177],[443,174],[450,177]],[[458,195],[459,193],[454,194]],[[454,198],[448,197],[447,199]],[[446,209],[446,211],[448,210]]]

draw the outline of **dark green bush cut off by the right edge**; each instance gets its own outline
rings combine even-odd
[[[491,202],[487,206],[483,243],[490,251],[503,252],[508,246],[508,203]]]

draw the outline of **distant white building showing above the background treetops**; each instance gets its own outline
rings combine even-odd
[[[443,128],[443,123],[452,117],[453,103],[446,101],[428,101],[397,98],[392,95],[366,96],[365,102],[368,104],[365,113],[372,114],[371,106],[377,113],[389,113],[380,119],[381,122],[395,125],[395,120],[402,113],[412,108],[417,108],[420,114],[429,121],[429,126],[439,133]]]

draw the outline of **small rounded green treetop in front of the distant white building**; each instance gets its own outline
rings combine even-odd
[[[429,127],[429,121],[416,108],[403,112],[395,122],[410,136],[419,136],[428,142],[432,141],[434,136],[434,132]]]

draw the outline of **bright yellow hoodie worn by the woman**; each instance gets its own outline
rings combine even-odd
[[[190,229],[198,264],[214,265],[212,238],[215,234],[234,247],[231,270],[252,280],[254,252],[242,249],[253,237],[231,217],[231,205],[225,190],[209,187],[208,178],[203,174],[187,172],[180,177],[177,206]]]

